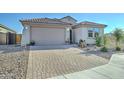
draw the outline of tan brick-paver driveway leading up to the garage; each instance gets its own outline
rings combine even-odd
[[[51,78],[108,63],[107,59],[81,52],[77,48],[30,51],[26,78]]]

